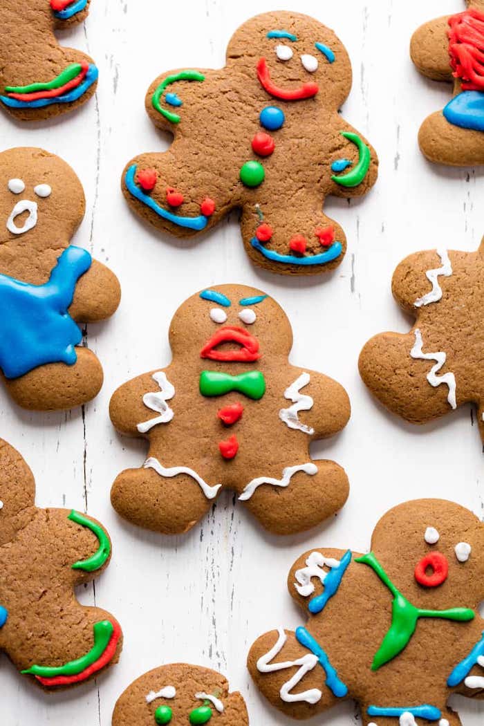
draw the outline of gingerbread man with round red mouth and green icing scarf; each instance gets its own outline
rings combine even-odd
[[[398,505],[372,550],[305,552],[287,585],[308,611],[262,635],[247,666],[287,716],[353,699],[364,726],[459,726],[454,693],[484,696],[484,524],[443,499]]]

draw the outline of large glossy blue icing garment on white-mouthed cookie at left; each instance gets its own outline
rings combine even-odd
[[[74,346],[81,343],[82,334],[67,309],[76,282],[91,262],[89,252],[71,245],[44,285],[0,274],[0,367],[6,378],[46,363],[75,363]]]

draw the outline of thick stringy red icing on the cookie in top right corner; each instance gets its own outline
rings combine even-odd
[[[472,8],[448,20],[448,54],[462,90],[484,91],[484,13]]]

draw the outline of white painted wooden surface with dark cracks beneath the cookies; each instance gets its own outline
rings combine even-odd
[[[483,454],[470,409],[415,428],[380,409],[358,377],[361,346],[373,333],[407,330],[390,294],[398,261],[437,242],[473,249],[484,232],[483,171],[430,166],[419,154],[417,129],[448,100],[448,88],[426,81],[409,60],[411,32],[424,20],[462,9],[460,0],[279,0],[335,28],[353,62],[348,121],[380,155],[380,179],[361,201],[329,200],[348,236],[348,253],[329,279],[285,280],[253,269],[237,218],[198,244],[163,238],[139,223],[120,194],[120,173],[138,152],[163,149],[144,113],[144,93],[169,68],[223,65],[226,42],[251,15],[274,1],[92,0],[83,27],[62,37],[97,61],[97,96],[52,124],[20,126],[2,116],[1,145],[41,146],[67,160],[83,181],[87,213],[75,243],[118,274],[118,314],[89,327],[89,346],[105,371],[102,393],[81,410],[22,412],[0,392],[0,435],[20,449],[37,479],[41,506],[77,507],[105,523],[114,542],[108,571],[81,592],[123,625],[120,664],[97,683],[44,694],[1,657],[0,723],[5,726],[109,726],[112,707],[137,676],[163,662],[206,664],[242,691],[250,722],[289,724],[263,703],[245,669],[255,637],[278,624],[295,627],[285,579],[295,558],[315,546],[365,550],[377,518],[397,502],[420,496],[455,499],[483,515]],[[113,431],[107,405],[118,384],[167,364],[168,323],[176,306],[200,287],[243,282],[263,287],[292,320],[295,364],[319,369],[350,394],[353,415],[334,441],[314,447],[345,466],[348,504],[310,536],[269,537],[227,494],[185,537],[150,534],[121,521],[110,507],[118,471],[138,466],[144,444]],[[28,567],[28,563],[25,564]],[[482,724],[484,706],[459,700],[464,726]],[[351,704],[310,724],[348,726]],[[131,725],[130,725],[131,726]]]

